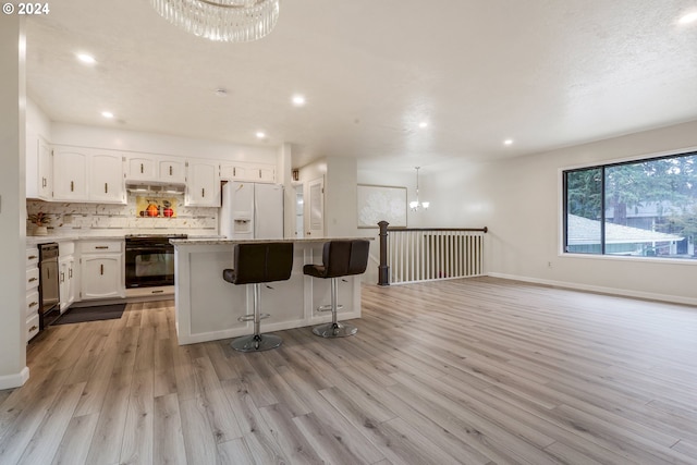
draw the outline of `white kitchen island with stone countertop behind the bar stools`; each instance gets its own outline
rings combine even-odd
[[[306,264],[321,264],[322,246],[332,240],[171,240],[174,245],[176,335],[180,345],[216,341],[253,333],[252,322],[239,317],[253,313],[252,286],[234,285],[222,279],[222,270],[233,268],[234,245],[239,243],[292,242],[293,271],[288,281],[261,286],[260,310],[270,314],[261,321],[261,332],[311,327],[331,321],[331,313],[316,308],[331,302],[330,280],[303,273]],[[372,237],[365,237],[372,240]],[[360,276],[339,281],[339,320],[360,318]],[[308,328],[309,331],[309,328]]]

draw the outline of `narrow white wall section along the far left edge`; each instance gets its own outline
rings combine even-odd
[[[25,50],[22,16],[0,16],[0,389],[22,386],[28,378],[24,278]]]

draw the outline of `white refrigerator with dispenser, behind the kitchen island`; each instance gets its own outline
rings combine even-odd
[[[222,186],[220,235],[283,238],[283,186],[233,181]]]

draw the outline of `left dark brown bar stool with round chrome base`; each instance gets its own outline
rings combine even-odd
[[[237,318],[254,321],[254,334],[237,338],[230,345],[241,352],[268,351],[283,342],[273,334],[261,334],[260,321],[269,314],[259,313],[260,284],[285,281],[293,269],[293,243],[235,244],[234,269],[222,271],[222,279],[233,284],[252,284],[254,287],[254,314]]]

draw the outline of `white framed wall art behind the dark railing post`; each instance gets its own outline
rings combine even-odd
[[[406,228],[406,187],[358,184],[358,228]]]

